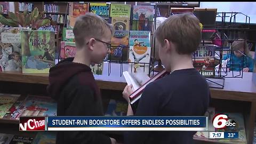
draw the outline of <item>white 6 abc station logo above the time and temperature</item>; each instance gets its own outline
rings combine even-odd
[[[212,120],[213,127],[216,129],[233,129],[236,127],[237,123],[233,119],[228,119],[228,116],[225,114],[217,114],[213,117]]]

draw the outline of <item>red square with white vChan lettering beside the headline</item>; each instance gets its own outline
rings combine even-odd
[[[45,117],[20,117],[20,131],[45,131]]]

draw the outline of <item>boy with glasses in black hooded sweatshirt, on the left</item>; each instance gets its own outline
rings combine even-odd
[[[94,13],[76,19],[73,29],[75,58],[67,58],[50,69],[47,92],[57,100],[58,116],[103,116],[101,95],[90,69],[110,53],[114,26]],[[96,131],[58,132],[56,143],[115,143]]]

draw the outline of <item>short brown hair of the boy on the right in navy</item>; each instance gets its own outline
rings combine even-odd
[[[155,36],[162,46],[167,39],[175,44],[179,54],[191,54],[201,43],[199,20],[192,13],[171,15],[159,25]]]

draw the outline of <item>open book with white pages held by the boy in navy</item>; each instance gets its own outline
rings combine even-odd
[[[140,73],[140,74],[142,74],[142,73]],[[128,85],[132,84],[133,86],[135,86],[135,88],[133,88],[134,92],[129,96],[130,101],[131,101],[130,103],[131,103],[131,106],[132,106],[133,113],[135,113],[135,111],[136,111],[136,108],[138,106],[140,97],[141,97],[143,91],[145,90],[145,87],[149,83],[154,82],[157,79],[159,79],[159,78],[161,78],[161,77],[163,77],[163,76],[165,76],[167,74],[170,74],[170,73],[167,72],[166,70],[163,70],[163,71],[161,71],[160,73],[154,75],[153,77],[148,79],[148,81],[145,82],[146,78],[139,77],[139,75],[137,77],[135,77],[134,74],[131,75],[130,73],[127,73],[127,71],[125,71],[123,73],[123,75],[125,77],[125,80],[126,80],[126,83]]]

